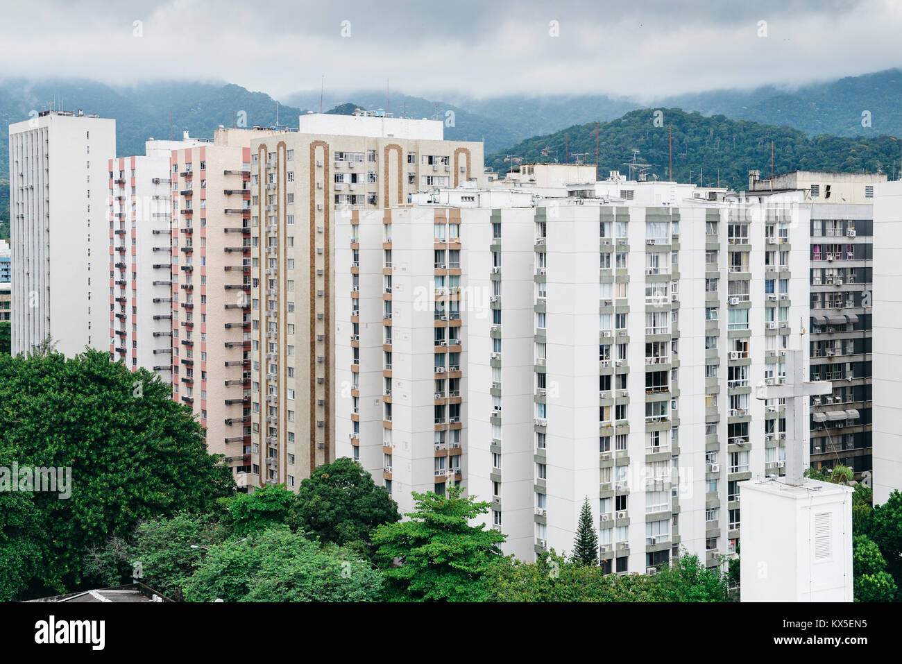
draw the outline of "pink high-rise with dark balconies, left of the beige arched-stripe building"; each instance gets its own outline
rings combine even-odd
[[[172,395],[207,429],[239,482],[251,452],[251,137],[219,129],[212,143],[170,152]],[[157,259],[154,259],[157,260]],[[154,263],[155,264],[155,263]]]

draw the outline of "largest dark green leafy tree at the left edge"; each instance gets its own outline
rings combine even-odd
[[[0,599],[76,587],[88,548],[235,491],[170,387],[107,353],[0,355],[0,421],[0,467],[60,469],[70,492],[0,492]]]

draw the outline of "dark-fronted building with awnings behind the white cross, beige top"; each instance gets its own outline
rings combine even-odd
[[[808,339],[811,380],[833,381],[833,393],[812,397],[811,464],[849,466],[856,477],[871,462],[871,300],[874,187],[883,173],[792,171],[761,180],[756,194],[801,191],[811,208]],[[768,242],[783,244],[784,230]]]

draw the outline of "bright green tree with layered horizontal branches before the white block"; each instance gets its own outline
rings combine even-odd
[[[457,487],[446,495],[413,493],[408,521],[373,531],[374,558],[388,580],[389,599],[479,602],[485,597],[483,574],[501,557],[505,538],[497,530],[470,521],[489,510]]]

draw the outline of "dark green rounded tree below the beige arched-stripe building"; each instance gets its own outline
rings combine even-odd
[[[289,522],[324,542],[364,550],[376,526],[396,521],[398,504],[385,487],[376,486],[353,459],[342,457],[301,481]]]

